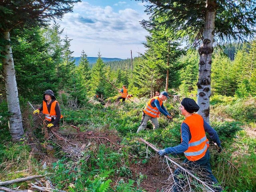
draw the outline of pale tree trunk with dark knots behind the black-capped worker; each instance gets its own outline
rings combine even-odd
[[[197,104],[200,114],[206,122],[210,122],[211,67],[214,39],[214,23],[216,17],[216,0],[206,1],[206,15],[203,30],[203,42],[198,50],[200,55],[199,76],[197,83]]]

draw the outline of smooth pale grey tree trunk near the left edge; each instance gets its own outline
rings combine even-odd
[[[18,87],[16,83],[16,75],[14,69],[14,62],[12,58],[12,48],[10,46],[10,33],[3,32],[6,46],[4,47],[2,59],[3,63],[3,77],[6,88],[6,98],[8,103],[8,120],[9,130],[12,140],[18,141],[22,138],[24,130],[22,127],[22,117],[20,112],[20,103],[18,98]]]

